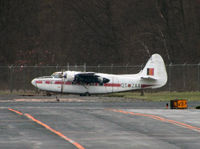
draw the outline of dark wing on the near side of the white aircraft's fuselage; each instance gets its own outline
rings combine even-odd
[[[80,72],[75,74],[73,83],[90,84],[90,83],[108,83],[110,80],[96,75],[94,72]]]

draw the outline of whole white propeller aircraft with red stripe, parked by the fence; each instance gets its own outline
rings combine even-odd
[[[113,93],[164,86],[167,72],[159,54],[153,54],[146,66],[137,74],[105,74],[95,72],[64,71],[32,80],[32,84],[47,92],[80,95]]]

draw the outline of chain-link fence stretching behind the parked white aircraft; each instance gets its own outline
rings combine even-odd
[[[31,84],[33,78],[48,76],[55,71],[75,70],[112,74],[134,74],[143,66],[1,66],[0,90],[35,90]],[[200,91],[200,64],[170,64],[166,66],[168,72],[167,84],[159,91]]]

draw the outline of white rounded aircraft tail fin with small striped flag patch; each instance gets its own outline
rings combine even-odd
[[[159,54],[153,54],[141,72],[141,79],[153,83],[151,88],[159,88],[167,83],[165,63]]]

